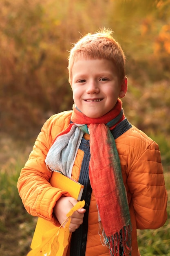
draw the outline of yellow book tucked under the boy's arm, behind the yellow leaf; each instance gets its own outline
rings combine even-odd
[[[71,197],[76,200],[81,200],[84,186],[69,177],[66,177],[62,173],[53,172],[51,176],[50,183],[53,187],[67,191]],[[38,218],[37,225],[35,227],[35,232],[33,235],[33,240],[31,243],[31,249],[35,249],[42,243],[42,235],[55,228],[56,226],[48,220],[43,218]]]

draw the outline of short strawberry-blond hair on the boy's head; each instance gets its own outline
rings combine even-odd
[[[73,44],[68,57],[69,82],[72,82],[73,64],[80,58],[107,59],[113,61],[120,81],[125,77],[125,55],[119,43],[111,36],[113,31],[101,29],[95,34],[86,34]]]

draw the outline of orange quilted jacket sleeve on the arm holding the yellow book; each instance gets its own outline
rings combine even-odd
[[[49,183],[51,172],[47,170],[44,161],[53,140],[51,129],[55,127],[51,122],[49,119],[42,127],[29,159],[22,168],[17,187],[28,213],[50,220],[57,225],[57,220],[53,216],[53,207],[62,195],[69,194],[52,187]]]

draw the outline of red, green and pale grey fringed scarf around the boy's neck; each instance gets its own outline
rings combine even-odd
[[[89,179],[97,202],[99,223],[103,227],[104,245],[108,246],[110,256],[131,255],[126,189],[115,139],[110,132],[124,118],[119,99],[113,110],[95,119],[86,117],[73,105],[73,123],[57,135],[45,160],[50,171],[61,171],[71,177],[82,136],[90,134]]]

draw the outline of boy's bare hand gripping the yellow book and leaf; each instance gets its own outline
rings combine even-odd
[[[60,224],[62,224],[64,220],[66,220],[66,214],[73,208],[75,204],[77,204],[77,200],[75,200],[71,196],[62,196],[56,202],[55,207],[53,208],[53,212]],[[69,231],[71,233],[78,229],[79,226],[83,223],[85,211],[86,210],[84,208],[78,209],[71,216],[71,223],[69,227]],[[64,223],[63,227],[65,226],[65,224],[66,222]]]

